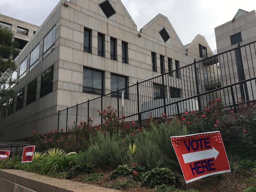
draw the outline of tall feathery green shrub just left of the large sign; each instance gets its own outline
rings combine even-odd
[[[134,137],[136,152],[129,159],[149,170],[166,166],[172,170],[180,169],[170,137],[186,134],[186,127],[175,118],[171,122],[151,124],[151,130],[141,131]]]

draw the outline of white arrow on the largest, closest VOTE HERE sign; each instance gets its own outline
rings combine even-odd
[[[192,153],[182,154],[184,163],[191,163],[194,161],[209,159],[209,158],[217,158],[219,151],[217,151],[214,147],[212,149],[207,149],[204,151],[195,151]]]

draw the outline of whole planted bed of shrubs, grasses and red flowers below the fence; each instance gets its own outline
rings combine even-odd
[[[163,114],[150,118],[148,125],[140,128],[136,122],[116,117],[116,110],[108,107],[99,111],[104,119],[102,125],[84,121],[68,133],[53,130],[38,135],[34,131],[31,141],[38,152],[33,162],[20,163],[20,157],[12,157],[0,160],[0,168],[23,169],[124,191],[249,191],[255,189],[256,161],[255,153],[247,146],[256,145],[256,113],[255,103],[242,104],[239,113],[228,112],[230,122],[217,99],[202,111],[186,111],[178,118]],[[236,138],[230,137],[227,127],[239,133]],[[217,130],[228,144],[232,172],[186,185],[170,136]],[[66,154],[70,151],[77,154]]]

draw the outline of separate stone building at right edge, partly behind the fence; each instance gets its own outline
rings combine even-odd
[[[239,9],[232,20],[215,28],[215,38],[218,53],[234,49],[220,58],[221,63],[226,63],[226,65],[220,65],[222,86],[254,77],[256,65],[253,63],[256,58],[252,49],[255,50],[255,47],[244,45],[256,41],[256,11],[247,12]],[[253,98],[255,89],[255,81],[237,86],[241,97],[246,101]],[[232,100],[230,92],[223,94],[228,100]]]

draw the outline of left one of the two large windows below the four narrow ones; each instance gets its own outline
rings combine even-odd
[[[87,75],[87,73],[89,71],[92,73],[92,75],[91,75],[92,79],[91,79],[91,82],[90,82],[91,83],[90,86],[88,86],[88,83],[84,83],[85,81],[87,81],[87,79],[85,79],[85,78],[90,77],[89,75]],[[100,82],[101,83],[101,88],[100,89],[93,86],[93,84],[94,84],[93,81],[94,82],[96,81],[96,79],[93,79],[93,76],[95,76],[96,74],[93,75],[93,73],[99,73],[98,75],[101,76],[101,82]],[[88,79],[88,80],[90,81],[90,79]],[[103,82],[104,82],[104,72],[103,71],[84,67],[84,69],[83,69],[83,93],[90,93],[90,94],[95,94],[95,95],[103,95],[103,93],[104,93],[104,91],[103,91]],[[85,85],[87,85],[87,86],[85,86]],[[99,93],[97,93],[97,91],[99,91]]]

